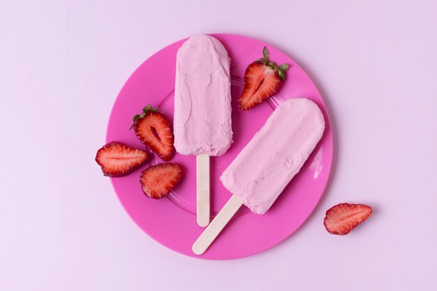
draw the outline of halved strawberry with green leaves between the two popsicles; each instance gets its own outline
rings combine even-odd
[[[240,110],[249,110],[262,101],[273,96],[281,82],[286,80],[289,66],[277,66],[269,60],[267,47],[262,50],[264,57],[254,61],[244,72],[244,90],[239,97]]]

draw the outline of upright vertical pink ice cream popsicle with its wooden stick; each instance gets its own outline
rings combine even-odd
[[[209,156],[232,143],[230,59],[212,36],[193,36],[179,48],[175,82],[175,148],[197,156],[197,220],[209,223]]]

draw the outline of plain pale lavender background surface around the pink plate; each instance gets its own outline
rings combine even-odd
[[[1,1],[0,290],[436,290],[435,1]],[[170,251],[94,162],[151,54],[239,33],[295,59],[329,106],[332,179],[309,220],[249,258]],[[374,213],[347,237],[325,211]]]

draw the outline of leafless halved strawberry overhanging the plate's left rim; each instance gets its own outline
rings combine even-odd
[[[109,177],[123,177],[147,162],[147,152],[128,147],[121,142],[110,142],[97,151],[96,162]]]

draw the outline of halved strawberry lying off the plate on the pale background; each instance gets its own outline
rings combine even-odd
[[[326,230],[331,234],[348,234],[372,214],[372,208],[364,204],[341,203],[326,211]]]

